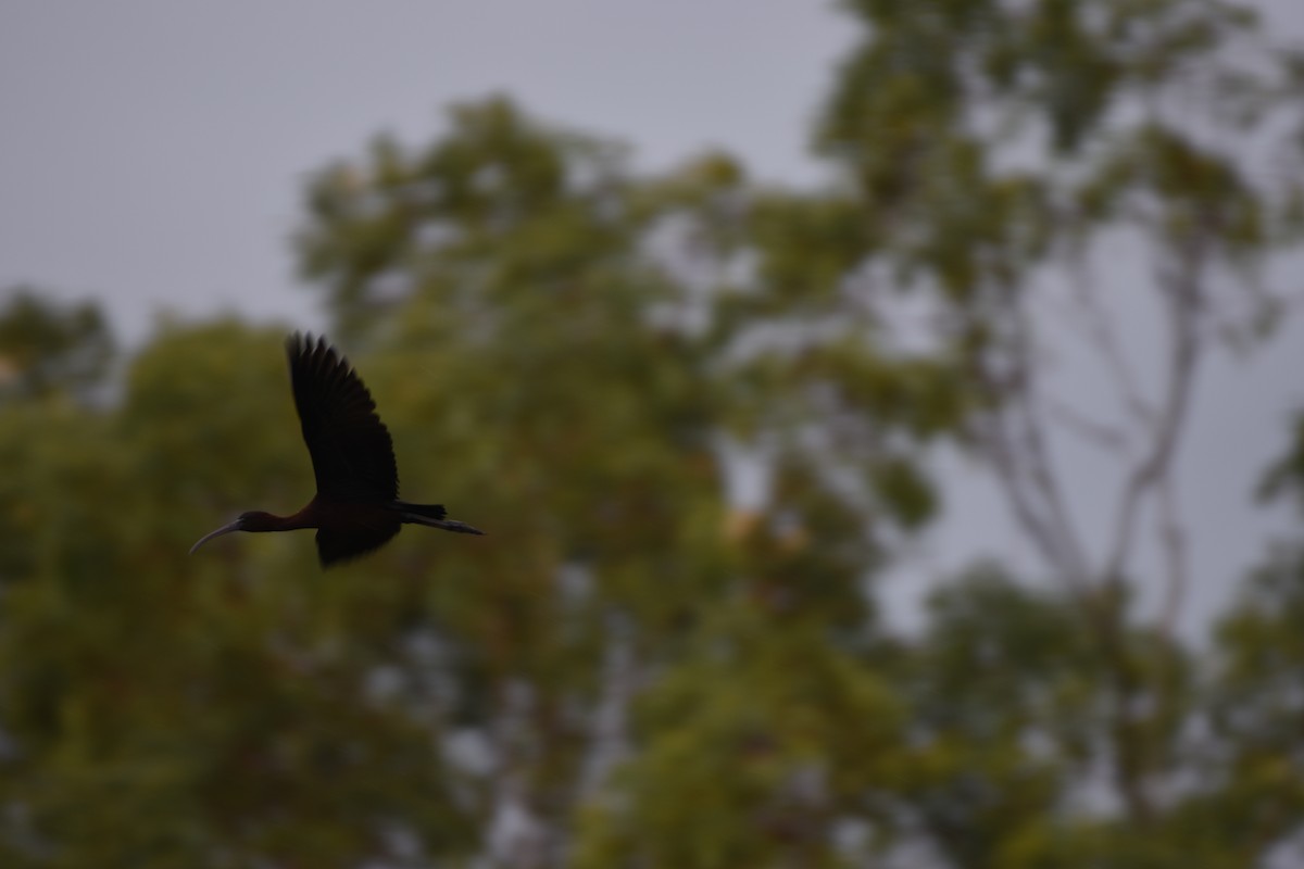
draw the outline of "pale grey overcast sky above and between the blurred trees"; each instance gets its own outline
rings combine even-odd
[[[1304,33],[1304,3],[1266,5]],[[0,0],[0,287],[96,296],[133,343],[166,309],[319,327],[287,245],[299,195],[377,132],[429,141],[449,103],[503,91],[625,139],[642,167],[724,146],[801,184],[819,177],[806,133],[854,35],[823,0]],[[1301,335],[1205,371],[1183,478],[1196,618],[1284,521],[1248,491],[1304,405]],[[1094,474],[1071,473],[1082,512],[1107,511]],[[1028,554],[995,492],[955,474],[915,578]]]

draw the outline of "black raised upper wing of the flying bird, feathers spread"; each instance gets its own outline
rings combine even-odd
[[[299,332],[286,340],[286,352],[317,494],[339,500],[398,498],[394,442],[348,360],[325,337],[314,341]]]

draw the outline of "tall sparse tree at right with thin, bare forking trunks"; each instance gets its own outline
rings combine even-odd
[[[816,147],[861,197],[872,264],[853,287],[889,318],[882,276],[895,276],[956,362],[973,399],[966,449],[1093,625],[1112,685],[1111,790],[1146,829],[1184,773],[1168,750],[1189,702],[1172,638],[1189,585],[1175,460],[1202,360],[1283,307],[1264,276],[1299,241],[1300,155],[1274,135],[1297,122],[1297,66],[1234,4],[849,7],[865,38]],[[1247,160],[1249,143],[1271,159]],[[1129,274],[1129,258],[1150,274]],[[1129,347],[1120,311],[1153,331]],[[1084,409],[1069,393],[1081,380],[1056,377],[1072,341],[1112,406]],[[1137,371],[1138,348],[1157,374]],[[1065,455],[1086,461],[1082,444],[1118,476],[1090,522],[1063,470]],[[1150,522],[1161,577],[1137,567]],[[1103,545],[1084,525],[1106,528]],[[1137,642],[1129,605],[1150,584],[1155,636]]]

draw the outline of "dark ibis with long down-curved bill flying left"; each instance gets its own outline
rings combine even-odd
[[[190,547],[192,555],[214,537],[231,532],[316,528],[317,554],[325,568],[378,548],[404,524],[484,534],[466,522],[445,519],[447,511],[441,504],[399,500],[399,472],[390,433],[376,414],[372,393],[325,336],[314,341],[312,335],[295,332],[286,340],[286,352],[317,495],[292,516],[240,513],[236,521],[200,538]]]

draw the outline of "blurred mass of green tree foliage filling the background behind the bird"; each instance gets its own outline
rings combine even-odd
[[[1038,270],[1119,228],[1247,268],[1294,237],[1287,192],[1123,108],[1201,70],[1236,94],[1201,106],[1266,117],[1219,53],[1252,22],[845,5],[833,189],[726,154],[639,177],[506,98],[314,176],[301,271],[404,496],[482,539],[327,575],[306,533],[188,558],[310,494],[287,330],[167,324],[95,405],[69,396],[110,358],[98,311],[14,297],[0,864],[1149,869],[1297,835],[1297,547],[1198,650],[1118,576],[974,567],[909,633],[874,593],[944,506],[934,444],[1003,400],[985,366]],[[922,341],[880,307],[921,298]],[[742,455],[765,491],[735,502]]]

